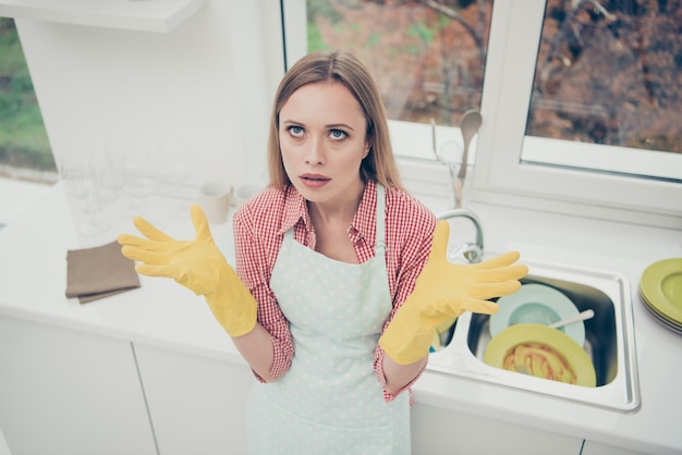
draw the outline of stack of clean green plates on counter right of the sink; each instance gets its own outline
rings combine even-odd
[[[654,319],[682,334],[682,258],[647,267],[640,280],[640,296]]]

